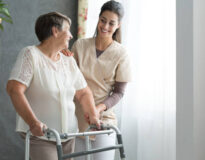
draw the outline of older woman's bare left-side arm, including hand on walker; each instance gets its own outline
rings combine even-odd
[[[25,85],[15,80],[9,80],[7,83],[7,92],[18,114],[29,125],[34,136],[43,136],[43,128],[46,126],[33,113],[24,94],[26,88]]]

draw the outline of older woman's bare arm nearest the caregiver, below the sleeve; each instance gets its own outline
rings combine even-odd
[[[96,124],[100,129],[99,113],[95,107],[95,102],[91,90],[86,87],[76,91],[75,98],[83,107],[84,114],[88,115],[90,124]]]

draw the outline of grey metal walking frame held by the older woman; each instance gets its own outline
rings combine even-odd
[[[86,160],[91,160],[90,154],[113,150],[113,149],[119,149],[120,159],[125,160],[125,152],[124,152],[124,147],[122,143],[122,135],[121,135],[120,130],[117,127],[112,126],[112,125],[101,125],[101,130],[99,131],[90,131],[92,129],[97,129],[97,127],[95,125],[90,125],[85,132],[70,133],[70,134],[67,134],[67,133],[59,134],[55,129],[46,129],[45,136],[48,139],[51,137],[54,137],[56,139],[58,160],[64,160],[66,158],[74,158],[74,157],[79,157],[79,156],[84,156],[84,155],[86,155]],[[116,138],[117,138],[118,144],[113,145],[113,146],[103,147],[103,148],[94,148],[94,149],[90,148],[89,136],[100,135],[100,134],[111,134],[113,132],[116,132]],[[26,140],[25,140],[26,141],[25,142],[25,160],[29,160],[30,135],[31,135],[31,132],[27,131]],[[74,152],[70,154],[63,154],[61,139],[67,139],[69,137],[77,137],[77,136],[85,137],[86,150],[81,151],[81,152]]]

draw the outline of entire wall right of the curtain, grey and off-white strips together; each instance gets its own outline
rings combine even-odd
[[[177,1],[176,160],[205,159],[205,1]]]

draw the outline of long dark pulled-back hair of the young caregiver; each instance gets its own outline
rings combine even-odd
[[[123,8],[121,3],[116,2],[114,0],[110,0],[110,1],[108,1],[106,3],[104,3],[103,6],[101,7],[101,11],[100,11],[99,17],[105,11],[111,11],[111,12],[117,14],[118,15],[118,20],[119,20],[119,22],[121,22],[122,17],[124,15],[124,8]],[[96,36],[96,35],[97,35],[97,28],[96,28],[94,36]],[[113,40],[116,40],[117,42],[121,43],[121,27],[116,29],[116,31],[113,34],[112,38],[113,38]]]

